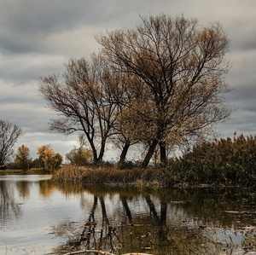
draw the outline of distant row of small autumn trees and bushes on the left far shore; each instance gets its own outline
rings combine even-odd
[[[22,129],[9,121],[0,120],[0,170],[40,168],[44,171],[58,169],[62,163],[61,154],[55,153],[50,145],[38,148],[38,159],[32,160],[30,149],[22,144],[15,153],[14,146],[22,135]],[[73,165],[88,165],[92,154],[84,148],[84,136],[79,136],[79,148],[73,148],[67,155],[67,160]]]

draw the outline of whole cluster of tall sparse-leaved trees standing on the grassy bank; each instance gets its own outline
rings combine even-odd
[[[121,149],[119,165],[135,144],[145,148],[141,166],[157,148],[166,164],[168,150],[212,136],[233,110],[224,105],[230,39],[220,24],[200,27],[166,14],[141,20],[135,29],[97,37],[98,55],[71,59],[65,72],[39,85],[60,116],[50,130],[83,134],[96,164],[109,143]]]

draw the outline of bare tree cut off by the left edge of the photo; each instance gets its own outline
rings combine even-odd
[[[22,129],[11,124],[9,121],[0,120],[0,165],[9,161],[14,153],[14,146],[18,138],[22,135]]]

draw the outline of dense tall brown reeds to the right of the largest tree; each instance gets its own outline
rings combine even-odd
[[[168,178],[169,176],[169,178]],[[253,185],[256,181],[256,136],[202,142],[166,168],[172,182]]]

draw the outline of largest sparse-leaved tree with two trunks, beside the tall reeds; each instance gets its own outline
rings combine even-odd
[[[138,78],[143,87],[123,119],[133,138],[151,137],[143,166],[157,145],[165,161],[168,146],[210,135],[229,118],[232,109],[223,94],[229,91],[224,75],[230,69],[225,59],[230,39],[220,24],[202,27],[195,19],[160,14],[96,40],[116,72]]]

